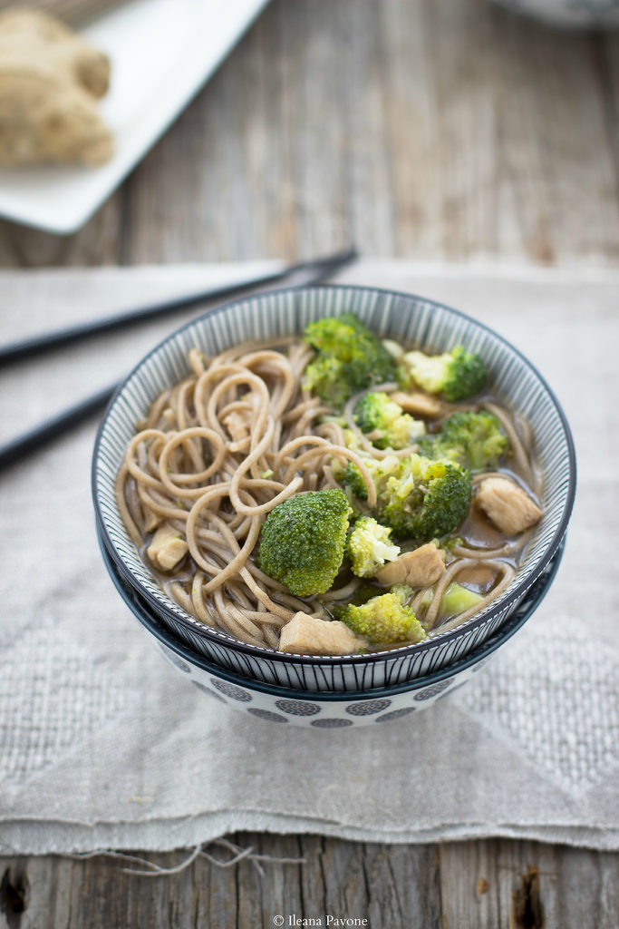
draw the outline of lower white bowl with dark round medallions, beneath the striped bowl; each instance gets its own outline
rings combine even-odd
[[[530,587],[508,622],[465,658],[448,668],[392,687],[370,687],[363,691],[325,693],[279,687],[226,671],[187,648],[148,608],[148,603],[126,582],[109,552],[101,552],[110,578],[127,607],[148,634],[151,642],[178,673],[213,700],[226,703],[258,719],[292,726],[334,729],[387,723],[419,713],[467,684],[484,668],[514,633],[534,614],[554,580],[563,554],[563,544]]]

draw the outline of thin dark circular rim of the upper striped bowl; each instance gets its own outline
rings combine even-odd
[[[550,559],[556,554],[565,531],[567,530],[570,517],[572,516],[572,509],[574,506],[574,496],[576,489],[576,457],[574,450],[574,438],[572,437],[572,432],[567,421],[567,417],[562,410],[561,403],[554,394],[554,391],[548,385],[546,379],[537,371],[535,365],[526,358],[526,356],[520,351],[520,349],[513,346],[508,339],[504,336],[496,333],[494,329],[490,326],[487,326],[484,322],[473,319],[467,313],[464,313],[462,310],[456,309],[455,307],[449,307],[444,303],[441,303],[437,300],[429,299],[420,294],[406,294],[402,291],[393,291],[380,287],[367,287],[367,286],[356,286],[355,284],[317,284],[312,287],[290,287],[282,288],[275,291],[268,291],[262,294],[256,294],[254,296],[240,298],[238,300],[231,301],[226,304],[222,304],[216,307],[207,309],[204,313],[201,313],[199,316],[194,317],[192,320],[187,321],[182,326],[177,327],[171,333],[166,335],[159,343],[152,347],[146,355],[144,355],[134,366],[134,368],[127,374],[121,384],[116,388],[106,411],[104,412],[100,424],[97,429],[97,437],[95,439],[95,446],[93,451],[92,459],[92,469],[91,469],[91,486],[93,501],[95,505],[95,517],[97,522],[97,527],[103,533],[103,538],[105,541],[105,546],[110,556],[114,559],[116,565],[123,573],[123,576],[127,581],[135,587],[135,589],[146,598],[148,604],[152,607],[159,609],[161,611],[161,601],[157,600],[155,596],[146,588],[139,580],[135,577],[135,574],[130,569],[130,567],[123,560],[123,557],[117,551],[108,529],[106,517],[103,512],[103,507],[99,499],[98,492],[98,479],[99,479],[99,467],[98,467],[98,458],[99,452],[101,449],[101,444],[106,432],[106,427],[110,419],[110,415],[114,411],[119,399],[123,397],[123,391],[126,386],[128,386],[135,378],[139,378],[141,369],[148,362],[149,359],[157,356],[163,347],[165,347],[172,340],[177,338],[179,335],[188,332],[193,329],[195,326],[200,325],[202,321],[207,318],[224,315],[229,313],[235,307],[240,307],[242,305],[254,305],[257,306],[261,302],[273,298],[286,299],[290,294],[296,296],[303,296],[304,293],[320,293],[320,292],[352,292],[359,294],[373,294],[375,296],[387,296],[395,299],[404,299],[406,301],[418,302],[425,304],[429,307],[436,307],[442,312],[446,313],[447,316],[454,316],[461,321],[464,321],[470,325],[473,329],[482,330],[484,333],[491,336],[496,342],[500,343],[502,346],[506,347],[509,352],[513,353],[517,358],[522,361],[524,367],[534,374],[539,385],[546,392],[548,399],[550,400],[554,410],[558,416],[559,422],[561,424],[562,437],[564,438],[567,455],[568,455],[568,464],[569,464],[569,479],[567,488],[565,491],[565,502],[563,504],[561,520],[554,531],[551,539],[548,542],[546,551],[539,558],[535,568],[530,570],[522,580],[511,590],[508,595],[499,597],[496,602],[490,604],[488,608],[485,608],[482,613],[478,616],[473,617],[471,620],[464,622],[461,626],[457,626],[455,629],[449,630],[446,633],[438,634],[432,636],[432,638],[425,639],[423,642],[418,642],[413,645],[403,646],[402,648],[393,648],[389,651],[376,651],[370,652],[365,655],[323,655],[323,656],[309,656],[309,655],[288,655],[282,652],[273,651],[268,648],[260,648],[258,646],[248,645],[245,642],[241,642],[239,639],[233,638],[231,635],[227,635],[225,632],[219,629],[213,629],[210,626],[202,626],[194,617],[189,617],[184,615],[184,610],[182,608],[174,608],[174,622],[180,622],[183,625],[187,626],[188,629],[191,629],[194,633],[197,633],[202,638],[206,640],[212,640],[213,644],[217,644],[220,647],[228,648],[233,652],[241,652],[243,654],[251,655],[253,657],[262,658],[268,661],[275,662],[290,662],[294,661],[297,664],[316,666],[316,664],[328,664],[329,666],[342,666],[342,665],[356,665],[356,664],[371,664],[375,661],[385,661],[392,660],[397,661],[400,659],[405,659],[409,654],[419,654],[419,652],[425,651],[430,648],[436,648],[437,644],[445,643],[453,639],[459,638],[461,635],[469,635],[473,630],[478,628],[481,625],[491,621],[493,617],[496,616],[496,613],[502,610],[505,610],[511,606],[512,603],[516,602],[522,595],[526,593],[531,584],[539,577],[541,572],[546,568]],[[175,606],[175,605],[174,605]],[[165,608],[165,607],[164,607]],[[173,609],[171,603],[170,610]]]

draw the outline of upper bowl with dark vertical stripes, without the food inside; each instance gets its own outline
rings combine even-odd
[[[152,401],[188,372],[193,347],[216,354],[245,339],[300,334],[310,321],[353,312],[380,337],[429,352],[464,345],[486,362],[496,394],[532,427],[543,479],[544,518],[506,592],[457,629],[417,645],[369,655],[283,655],[245,645],[204,626],[161,591],[129,539],[114,480],[135,423]],[[535,368],[500,335],[458,310],[419,296],[360,287],[320,286],[275,291],[218,307],[178,329],[155,347],[120,386],[97,434],[93,496],[102,543],[123,577],[153,614],[188,648],[222,668],[265,683],[312,691],[389,687],[432,674],[478,648],[508,619],[548,565],[567,529],[574,504],[575,456],[561,407]]]

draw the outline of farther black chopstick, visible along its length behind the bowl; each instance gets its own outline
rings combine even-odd
[[[339,268],[342,264],[354,260],[356,256],[356,250],[352,247],[345,252],[290,265],[288,268],[282,268],[282,270],[273,274],[265,274],[250,281],[224,284],[194,294],[171,297],[148,307],[136,307],[100,320],[80,322],[67,329],[33,335],[31,338],[0,346],[0,367],[13,364],[16,361],[35,358],[45,352],[71,345],[74,342],[82,342],[84,339],[92,338],[95,335],[115,332],[140,322],[155,320],[177,310],[205,303],[207,300],[222,300],[226,296],[242,294],[246,290],[264,287],[268,284],[277,283],[277,281],[284,281],[299,272],[308,271],[311,273],[316,270],[316,272],[319,271],[321,274],[326,275],[329,268]]]

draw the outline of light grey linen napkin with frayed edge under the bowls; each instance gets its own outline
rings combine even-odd
[[[3,272],[0,337],[272,267]],[[282,733],[190,687],[116,594],[95,536],[90,422],[0,474],[0,851],[167,850],[237,830],[619,848],[619,274],[363,261],[338,280],[463,309],[558,395],[578,490],[542,606],[424,713]],[[0,441],[112,383],[190,315],[6,369]]]

